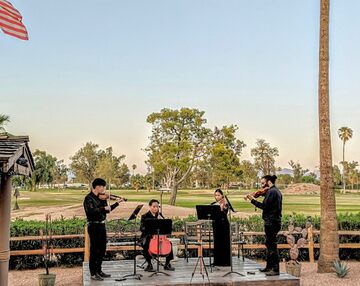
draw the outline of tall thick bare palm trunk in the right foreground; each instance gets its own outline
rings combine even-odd
[[[318,272],[332,271],[339,259],[336,201],[332,179],[329,112],[329,12],[330,0],[320,0],[319,137],[320,137],[320,257]]]

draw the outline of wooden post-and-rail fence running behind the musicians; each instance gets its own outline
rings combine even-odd
[[[280,231],[279,235],[284,235],[286,232]],[[338,231],[339,236],[360,236],[360,231]],[[113,237],[116,235],[116,233],[108,233],[108,237]],[[138,233],[137,235],[140,235]],[[172,236],[174,237],[182,237],[184,236],[184,232],[173,232]],[[248,236],[264,236],[264,232],[255,232],[255,231],[248,231],[243,232],[242,235],[244,237]],[[313,230],[312,227],[308,229],[308,243],[302,248],[309,249],[309,261],[314,262],[315,256],[314,256],[314,249],[320,248],[320,245],[317,243],[314,243],[314,235],[320,235],[319,230]],[[126,232],[121,233],[121,237],[129,238],[131,239],[133,237],[133,233]],[[67,234],[67,235],[52,235],[50,237],[51,239],[73,239],[73,238],[84,238],[85,245],[84,247],[77,247],[77,248],[54,248],[51,249],[51,252],[54,254],[62,254],[62,253],[84,253],[84,261],[89,260],[90,255],[90,242],[89,242],[89,236],[87,233],[87,227],[85,227],[84,234]],[[37,241],[45,241],[47,238],[44,235],[40,236],[23,236],[23,237],[11,237],[10,241],[31,241],[31,240],[37,240]],[[43,255],[45,253],[46,246],[43,245],[41,249],[35,249],[35,250],[11,250],[10,255]],[[189,245],[188,249],[197,249],[198,253],[200,250],[199,245]],[[208,249],[208,245],[202,246],[204,249]],[[240,245],[238,243],[234,243],[232,245],[233,249],[237,250]],[[347,249],[360,249],[360,243],[340,243],[340,248],[347,248]],[[185,245],[180,244],[178,245],[178,249],[184,249]],[[264,244],[243,244],[243,248],[245,250],[254,250],[254,249],[265,249],[266,246]],[[290,246],[288,244],[278,244],[279,249],[288,249]],[[142,248],[140,246],[136,246],[136,250],[141,250]],[[134,250],[133,245],[116,245],[111,246],[108,245],[106,248],[107,251],[120,251],[120,250]]]

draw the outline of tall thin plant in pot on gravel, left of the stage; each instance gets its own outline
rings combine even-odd
[[[43,258],[44,258],[44,265],[45,265],[46,273],[38,275],[39,286],[54,286],[55,285],[56,274],[52,274],[49,272],[49,268],[50,268],[49,264],[54,258],[54,255],[51,252],[51,248],[50,248],[50,240],[51,240],[51,215],[46,214],[45,245],[43,246],[43,249],[44,249]]]

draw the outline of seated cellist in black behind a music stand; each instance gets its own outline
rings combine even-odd
[[[147,234],[145,233],[145,220],[146,219],[164,219],[162,213],[159,211],[159,201],[152,199],[149,201],[149,211],[145,214],[143,214],[141,216],[141,226],[140,226],[140,230],[141,230],[141,237],[140,237],[140,241],[143,247],[143,255],[144,258],[146,260],[146,262],[148,263],[148,265],[146,266],[146,268],[144,269],[144,271],[152,271],[153,265],[151,263],[151,258],[152,256],[149,253],[149,245],[150,245],[150,240],[152,238],[151,234]],[[171,252],[170,254],[166,257],[166,262],[165,262],[165,266],[164,266],[164,270],[169,270],[169,271],[174,271],[175,268],[171,266],[170,261],[174,259],[174,254],[172,251],[172,247],[171,247]]]

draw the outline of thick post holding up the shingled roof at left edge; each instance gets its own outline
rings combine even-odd
[[[8,285],[10,259],[10,210],[11,178],[1,174],[0,178],[0,285]]]

